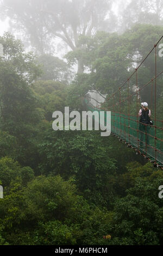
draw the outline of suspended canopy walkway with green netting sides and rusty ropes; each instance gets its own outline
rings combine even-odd
[[[143,155],[154,166],[163,169],[163,117],[160,116],[161,93],[163,94],[163,54],[161,57],[161,40],[154,45],[146,58],[134,68],[134,72],[116,92],[106,97],[104,103],[94,107],[89,97],[86,98],[87,110],[111,111],[111,133],[128,147],[135,149],[136,154]],[[163,40],[162,40],[163,43]],[[162,50],[163,53],[163,50]],[[153,63],[150,72],[146,70],[148,62]],[[144,73],[148,72],[148,75]],[[143,75],[144,74],[144,75]],[[143,79],[144,77],[146,79]],[[142,84],[142,81],[146,81]],[[141,102],[148,102],[151,109],[153,125],[140,127],[139,110]],[[161,103],[162,104],[162,103]],[[163,112],[163,108],[162,108]],[[141,147],[140,147],[141,146]]]

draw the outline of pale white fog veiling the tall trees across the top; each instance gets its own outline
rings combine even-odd
[[[137,22],[162,25],[162,5],[163,0],[1,0],[0,34],[10,31],[27,49],[63,58],[79,47],[81,35],[121,34]]]

